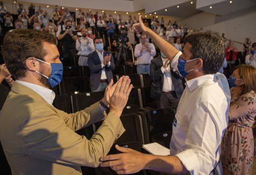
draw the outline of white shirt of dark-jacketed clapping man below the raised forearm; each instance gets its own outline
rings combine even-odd
[[[163,65],[165,65],[166,61],[169,61],[168,59],[163,59]],[[164,66],[161,67],[161,71],[164,74],[164,84],[163,84],[163,92],[169,92],[169,91],[174,91],[174,85],[173,85],[173,81],[172,81],[172,74],[171,74],[171,67],[170,65],[167,66],[167,68],[165,69]]]

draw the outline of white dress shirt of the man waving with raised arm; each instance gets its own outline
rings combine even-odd
[[[176,70],[181,54],[171,64]],[[223,74],[208,74],[186,82],[173,122],[170,149],[190,174],[208,175],[216,166],[228,124],[229,103],[229,86]]]

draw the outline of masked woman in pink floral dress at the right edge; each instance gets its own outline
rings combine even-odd
[[[256,68],[241,64],[229,77],[231,102],[228,127],[221,143],[224,174],[252,174],[254,144],[252,125],[256,113]]]

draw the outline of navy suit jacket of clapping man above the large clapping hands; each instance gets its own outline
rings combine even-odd
[[[107,51],[104,51],[103,57],[105,57],[107,54],[110,54],[110,53]],[[93,90],[96,90],[99,86],[101,72],[102,72],[101,61],[100,61],[99,56],[96,51],[94,51],[88,55],[88,66],[91,71],[90,88],[93,91]],[[105,72],[106,72],[106,77],[107,77],[108,83],[113,78],[112,71],[114,70],[114,68],[115,68],[115,65],[114,65],[114,59],[112,56],[111,60],[110,60],[110,66],[109,67],[105,66]]]

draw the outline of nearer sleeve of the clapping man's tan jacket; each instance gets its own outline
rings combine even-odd
[[[30,116],[33,117],[22,125],[24,151],[30,156],[56,163],[97,167],[99,158],[108,153],[124,132],[119,117],[113,113],[107,115],[90,139],[75,133],[49,108],[31,111]]]

